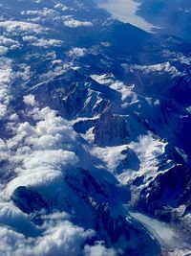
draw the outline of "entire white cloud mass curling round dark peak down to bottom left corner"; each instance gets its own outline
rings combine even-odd
[[[32,213],[43,220],[37,227],[30,221],[32,215],[24,214],[10,200],[20,186],[33,187],[48,200],[57,191],[65,197],[65,170],[78,163],[79,137],[68,122],[49,107],[38,108],[33,95],[26,95],[23,101],[30,105],[32,124],[12,118],[14,135],[0,140],[1,159],[8,159],[16,173],[0,194],[0,255],[83,255],[84,244],[94,231],[74,225],[67,213],[58,211]]]

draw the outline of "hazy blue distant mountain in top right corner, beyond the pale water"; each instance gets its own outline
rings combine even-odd
[[[191,41],[191,2],[187,0],[137,0],[138,14],[159,26],[159,32]]]

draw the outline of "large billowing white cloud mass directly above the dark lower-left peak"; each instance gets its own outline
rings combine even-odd
[[[35,105],[32,95],[25,96],[24,102]],[[78,136],[73,128],[49,107],[34,107],[32,116],[36,125],[18,124],[13,128],[15,136],[7,141],[17,174],[5,190],[8,197],[19,186],[37,187],[44,193],[49,186],[50,194],[56,186],[64,190],[65,170],[78,162],[75,154]]]

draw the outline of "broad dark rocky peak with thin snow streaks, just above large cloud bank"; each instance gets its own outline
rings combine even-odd
[[[49,105],[68,119],[78,115],[88,97],[84,83],[86,78],[78,72],[69,70],[46,84],[32,89],[40,105]]]

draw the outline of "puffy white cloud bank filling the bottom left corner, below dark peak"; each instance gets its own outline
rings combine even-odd
[[[41,236],[26,238],[7,226],[0,226],[0,254],[4,256],[76,256],[85,240],[94,234],[70,221],[49,226]]]

